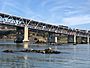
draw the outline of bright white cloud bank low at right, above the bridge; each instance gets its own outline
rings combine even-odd
[[[90,23],[90,16],[76,16],[63,19],[63,24],[65,25],[78,25],[85,23]]]

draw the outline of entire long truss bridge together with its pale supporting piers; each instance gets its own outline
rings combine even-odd
[[[19,34],[22,36],[23,42],[29,42],[29,32],[34,31],[38,33],[47,34],[47,43],[60,44],[60,43],[89,43],[90,31],[71,29],[63,25],[51,25],[43,22],[26,19],[23,17],[13,16],[9,14],[0,13],[1,26],[13,26],[17,29],[17,40]],[[24,30],[23,30],[24,29]],[[24,35],[23,35],[23,33]],[[65,40],[63,40],[65,39]],[[79,40],[79,41],[78,41]]]

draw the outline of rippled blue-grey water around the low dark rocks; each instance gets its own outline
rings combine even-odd
[[[29,48],[33,49],[48,47],[57,49],[62,53],[3,53],[2,51],[5,49],[23,49],[23,44],[2,42],[0,44],[0,68],[90,68],[90,45],[29,45]]]

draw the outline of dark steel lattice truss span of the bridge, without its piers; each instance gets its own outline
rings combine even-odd
[[[90,31],[87,30],[71,29],[63,25],[59,25],[59,26],[50,25],[42,22],[33,21],[31,19],[25,19],[23,17],[17,17],[17,16],[0,13],[0,24],[11,25],[16,27],[17,26],[24,27],[24,25],[28,23],[29,23],[28,27],[31,29],[44,30],[58,34],[59,33],[68,34],[68,35],[76,34],[77,36],[85,36],[85,37],[90,35]]]

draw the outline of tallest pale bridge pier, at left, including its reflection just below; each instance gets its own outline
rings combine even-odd
[[[25,24],[24,26],[24,48],[27,49],[28,48],[28,24]]]

